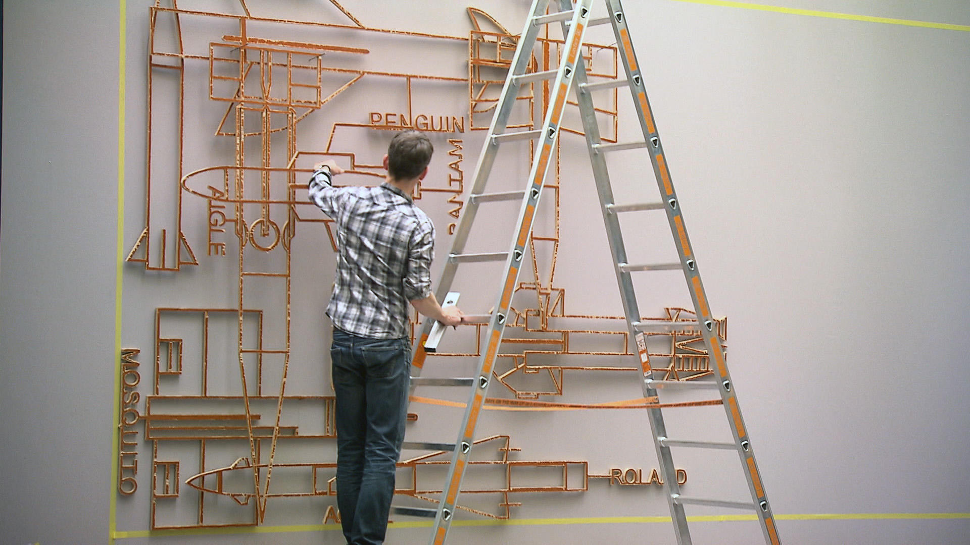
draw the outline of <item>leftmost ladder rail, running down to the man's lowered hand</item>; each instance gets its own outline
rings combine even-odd
[[[478,162],[475,165],[475,172],[472,176],[474,181],[471,185],[471,195],[480,194],[485,190],[485,184],[492,172],[492,165],[495,163],[496,152],[499,148],[498,145],[490,142],[492,135],[503,132],[505,125],[508,123],[508,116],[515,106],[515,97],[518,96],[521,86],[513,76],[519,76],[525,73],[526,67],[529,66],[529,62],[532,59],[533,47],[539,34],[540,27],[533,24],[533,16],[540,15],[544,12],[548,4],[549,0],[534,0],[531,15],[526,17],[525,27],[519,35],[518,48],[516,48],[515,55],[512,57],[512,64],[508,69],[505,83],[501,88],[501,95],[499,103],[496,106],[496,112],[492,116],[492,121],[489,124],[485,144],[482,146],[481,153],[478,156]],[[458,221],[458,228],[455,230],[455,238],[452,239],[449,254],[462,253],[465,250],[465,243],[469,239],[469,232],[477,211],[478,203],[469,200],[461,219]],[[444,301],[443,298],[451,290],[451,283],[454,281],[457,270],[457,263],[451,263],[450,260],[445,260],[444,268],[438,276],[437,289],[435,291],[438,301]],[[431,334],[434,325],[433,320],[425,319],[421,333],[414,336],[414,344],[411,350],[411,353],[414,355],[412,358],[411,376],[420,376],[421,374],[421,369],[424,367],[424,360],[427,356],[424,343]],[[414,389],[411,388],[411,394],[413,393]]]

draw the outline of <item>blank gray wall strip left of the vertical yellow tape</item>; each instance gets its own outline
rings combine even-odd
[[[6,2],[0,542],[105,543],[112,490],[115,2]]]

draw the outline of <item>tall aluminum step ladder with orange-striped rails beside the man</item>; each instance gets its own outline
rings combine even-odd
[[[606,226],[607,237],[613,256],[617,280],[623,298],[624,311],[627,316],[628,328],[631,336],[636,339],[642,373],[643,396],[647,399],[658,399],[658,390],[669,388],[710,388],[717,389],[727,412],[727,424],[733,434],[733,442],[711,442],[703,440],[673,439],[667,436],[660,408],[647,409],[650,426],[654,437],[654,446],[661,470],[663,472],[663,486],[674,524],[677,543],[689,545],[692,543],[688,529],[685,505],[706,505],[753,510],[758,515],[760,527],[765,543],[779,545],[781,543],[775,526],[771,507],[768,504],[764,488],[761,483],[758,465],[755,463],[754,449],[748,437],[747,429],[741,418],[741,411],[737,398],[731,387],[730,376],[727,373],[724,347],[717,337],[716,322],[711,314],[707,297],[704,294],[700,274],[695,262],[695,256],[687,237],[681,207],[673,190],[663,146],[657,132],[656,123],[650,111],[646,91],[644,90],[640,66],[630,42],[630,32],[627,19],[624,16],[620,0],[605,0],[607,16],[592,18],[593,0],[554,0],[553,11],[547,14],[550,0],[533,0],[530,16],[526,20],[525,28],[520,35],[518,48],[512,59],[511,67],[501,91],[501,98],[496,107],[496,113],[489,127],[485,144],[479,156],[474,174],[474,182],[469,195],[468,207],[460,220],[458,230],[452,244],[448,259],[441,273],[436,290],[436,296],[442,305],[454,305],[458,294],[450,292],[451,284],[460,264],[476,262],[504,261],[505,274],[498,287],[499,296],[490,314],[472,317],[472,321],[488,322],[485,334],[485,350],[478,360],[477,374],[469,378],[455,379],[422,379],[421,369],[424,367],[426,356],[436,350],[437,342],[445,328],[440,324],[425,320],[421,334],[416,337],[414,359],[411,366],[411,389],[420,386],[458,386],[470,389],[469,401],[465,416],[459,427],[458,438],[454,443],[414,443],[405,442],[405,448],[453,451],[449,465],[448,476],[436,509],[420,509],[410,507],[396,507],[393,511],[401,515],[434,517],[435,524],[429,543],[441,545],[451,521],[453,519],[462,478],[469,463],[469,454],[473,443],[475,426],[478,421],[482,405],[485,401],[492,369],[495,365],[506,317],[509,312],[512,294],[517,282],[518,273],[526,252],[526,244],[532,232],[533,215],[542,194],[542,184],[549,167],[553,147],[559,136],[559,124],[566,106],[566,96],[570,87],[575,86],[579,104],[580,116],[583,121],[586,141],[589,147],[590,160],[598,188],[600,207]],[[533,47],[540,28],[544,24],[560,24],[566,35],[563,55],[559,68],[554,71],[526,74],[527,65],[533,53]],[[611,80],[591,83],[587,81],[586,68],[579,56],[583,44],[585,31],[596,24],[611,24],[616,36],[619,54],[623,59],[626,80]],[[553,80],[548,108],[540,128],[529,131],[506,133],[506,124],[515,97],[522,83],[535,80]],[[597,89],[627,86],[633,98],[636,115],[639,118],[643,133],[643,141],[634,143],[604,144],[599,137],[596,111],[591,93]],[[496,156],[501,150],[501,144],[515,140],[533,140],[537,146],[532,169],[529,174],[529,185],[523,191],[486,193],[485,185]],[[654,173],[663,199],[657,203],[618,205],[613,202],[612,189],[606,167],[608,153],[626,149],[646,148],[650,153]],[[512,234],[512,240],[507,252],[496,253],[464,253],[466,241],[474,222],[475,214],[481,204],[494,201],[520,199],[518,221]],[[679,254],[677,262],[660,264],[630,264],[620,231],[619,213],[633,211],[664,210],[670,225],[671,235]],[[647,355],[644,331],[649,329],[646,322],[641,322],[639,309],[633,291],[631,272],[656,272],[682,270],[687,280],[687,286],[695,305],[695,326],[702,333],[704,345],[709,355],[711,367],[714,369],[714,382],[698,381],[667,381],[655,380],[653,369],[650,367]],[[678,448],[709,448],[733,449],[740,459],[742,470],[748,482],[752,502],[727,501],[699,497],[684,497],[680,494],[677,483],[676,469],[671,457],[671,447]]]

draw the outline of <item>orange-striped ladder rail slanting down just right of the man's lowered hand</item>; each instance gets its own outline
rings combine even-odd
[[[523,198],[522,207],[519,210],[518,230],[514,234],[508,257],[505,260],[506,272],[499,286],[499,297],[495,311],[489,319],[488,330],[485,334],[487,339],[486,349],[478,360],[477,387],[469,396],[465,417],[462,420],[463,426],[459,430],[458,440],[455,441],[458,447],[452,455],[446,486],[443,488],[442,497],[438,503],[435,526],[430,540],[431,545],[442,545],[451,526],[452,515],[455,511],[461,482],[469,459],[470,447],[474,440],[473,434],[482,404],[485,401],[492,369],[499,353],[501,335],[515,291],[518,274],[525,257],[526,244],[532,235],[533,219],[538,207],[539,197],[542,194],[542,184],[552,157],[552,148],[559,137],[559,123],[565,110],[569,86],[575,77],[576,60],[579,58],[580,46],[588,26],[592,2],[593,0],[579,0],[574,7],[575,12],[571,19],[568,36],[566,36],[567,53],[560,62],[559,73],[554,80],[552,104],[548,105],[542,124],[540,152],[533,158],[533,166],[529,176],[530,187],[526,190]],[[536,3],[539,3],[539,0],[536,0]],[[570,6],[569,9],[573,9],[573,7]],[[527,25],[532,24],[533,18],[530,17]],[[522,47],[523,43],[520,42],[519,48]],[[509,84],[512,76],[513,74],[510,72],[508,79],[505,80],[506,85]],[[491,139],[487,139],[484,145],[489,147],[495,144],[491,142]],[[486,152],[487,150],[483,151],[483,156]]]

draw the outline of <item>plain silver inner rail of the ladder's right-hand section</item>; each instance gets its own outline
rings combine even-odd
[[[562,0],[568,2],[569,0]],[[586,68],[582,63],[576,69],[577,89],[581,83],[586,82]],[[586,133],[586,144],[590,152],[590,162],[593,165],[593,177],[596,180],[597,193],[599,196],[600,211],[603,216],[603,223],[606,226],[606,238],[609,241],[610,251],[613,254],[613,270],[616,272],[620,296],[623,300],[624,312],[627,315],[627,328],[630,331],[630,339],[637,335],[637,330],[633,327],[634,321],[639,321],[640,311],[636,303],[636,295],[633,291],[632,278],[630,272],[621,270],[619,264],[627,262],[627,250],[623,242],[620,221],[616,213],[606,208],[613,203],[613,190],[609,181],[609,174],[606,167],[606,159],[593,147],[599,144],[599,126],[594,110],[593,97],[589,91],[577,90],[576,99],[579,103],[580,117],[583,121],[583,132]],[[654,398],[658,396],[649,380],[653,378],[653,372],[644,365],[640,385],[643,389],[644,398]],[[654,448],[657,451],[657,460],[663,472],[663,488],[666,493],[667,506],[670,509],[670,517],[674,523],[674,532],[677,536],[678,545],[691,545],[691,535],[687,525],[687,516],[684,507],[675,503],[673,498],[680,495],[680,485],[677,483],[676,469],[670,448],[663,445],[658,437],[666,436],[666,426],[663,422],[663,413],[660,408],[647,409],[650,415],[650,429],[652,432]]]

